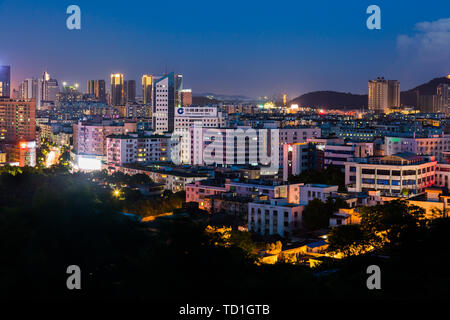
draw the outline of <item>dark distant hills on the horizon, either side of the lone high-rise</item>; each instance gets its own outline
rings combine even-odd
[[[400,92],[400,104],[414,106],[417,95],[436,94],[436,88],[441,83],[450,84],[447,77],[434,78],[413,89]],[[305,93],[293,100],[291,104],[323,109],[367,108],[367,94],[353,94],[336,91],[314,91]]]

